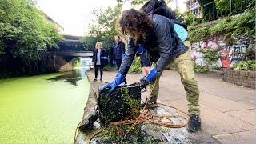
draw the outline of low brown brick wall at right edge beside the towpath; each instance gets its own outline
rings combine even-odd
[[[238,86],[255,89],[255,71],[224,69],[222,79]]]

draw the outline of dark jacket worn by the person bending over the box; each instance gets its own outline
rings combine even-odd
[[[152,30],[151,34],[138,43],[146,47],[150,54],[150,61],[156,62],[156,69],[161,72],[170,60],[185,53],[188,47],[174,34],[174,22],[170,21],[170,19],[154,14],[153,25],[154,30]],[[119,70],[123,75],[127,74],[137,50],[138,45],[134,43],[132,38],[129,38],[126,57],[122,61]]]

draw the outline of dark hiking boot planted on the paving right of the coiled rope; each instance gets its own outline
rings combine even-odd
[[[201,118],[199,115],[190,115],[190,120],[187,124],[187,130],[190,132],[196,132],[198,130],[201,130]]]

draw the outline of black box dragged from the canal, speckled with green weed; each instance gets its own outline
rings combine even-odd
[[[137,118],[140,110],[141,88],[137,85],[118,86],[112,93],[101,90],[98,97],[100,120],[110,122]]]

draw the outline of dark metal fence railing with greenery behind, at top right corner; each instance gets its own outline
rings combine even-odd
[[[198,3],[201,6],[198,6]],[[241,14],[246,9],[255,6],[255,0],[224,0],[212,1],[206,4],[194,2],[190,5],[190,13],[193,14],[193,22],[210,22],[228,15]]]

